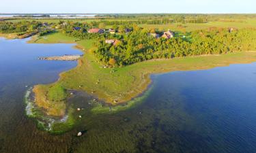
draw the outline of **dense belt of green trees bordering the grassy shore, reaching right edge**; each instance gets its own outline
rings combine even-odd
[[[256,50],[256,30],[228,29],[194,31],[191,39],[172,39],[147,36],[148,31],[133,31],[115,45],[98,42],[94,54],[100,63],[123,66],[156,58],[198,56],[203,54],[225,54],[227,52]],[[113,62],[114,60],[114,62]]]

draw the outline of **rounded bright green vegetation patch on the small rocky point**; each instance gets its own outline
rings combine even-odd
[[[63,101],[67,97],[66,89],[60,84],[55,84],[49,88],[47,98],[50,101]]]

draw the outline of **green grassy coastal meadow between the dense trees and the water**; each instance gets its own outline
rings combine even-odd
[[[54,33],[47,35],[46,38],[37,39],[36,43],[69,43],[72,40],[71,37],[66,37],[61,33]],[[76,43],[85,53],[84,56],[79,60],[79,65],[76,68],[61,73],[59,81],[55,82],[54,85],[61,84],[66,89],[89,92],[113,105],[129,101],[145,91],[151,82],[150,74],[152,73],[210,69],[233,63],[256,61],[256,52],[236,52],[219,56],[159,59],[122,68],[103,69],[101,68],[102,65],[96,62],[94,55],[87,51],[91,48],[90,40],[76,41]],[[44,90],[48,90],[48,88],[44,88]]]

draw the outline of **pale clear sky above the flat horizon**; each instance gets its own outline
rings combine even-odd
[[[0,13],[256,13],[256,0],[0,0]]]

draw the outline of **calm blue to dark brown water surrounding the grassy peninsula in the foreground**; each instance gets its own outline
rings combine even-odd
[[[26,85],[54,82],[75,62],[38,56],[81,54],[71,44],[0,39],[0,152],[241,152],[256,150],[256,63],[152,75],[143,103],[116,114],[85,107],[74,130],[51,135],[25,116]],[[79,119],[78,119],[79,120]],[[83,131],[82,137],[76,137]]]

